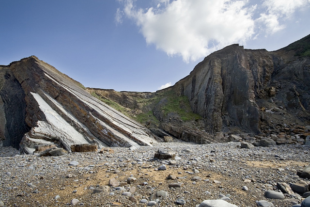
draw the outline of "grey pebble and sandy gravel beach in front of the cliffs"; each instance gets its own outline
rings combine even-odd
[[[159,148],[175,152],[176,159],[153,160]],[[165,196],[154,198],[156,206],[195,207],[203,200],[222,198],[239,207],[257,206],[259,200],[291,207],[301,201],[289,194],[283,200],[268,199],[264,191],[279,191],[278,182],[309,182],[296,175],[310,161],[310,146],[299,144],[242,149],[240,143],[174,142],[110,149],[113,152],[38,157],[16,155],[15,149],[1,147],[0,206],[1,202],[15,207],[68,206],[75,201],[77,206],[146,206],[152,205],[152,194],[164,191]],[[71,161],[78,165],[69,165]],[[169,174],[176,179],[168,179]],[[128,184],[128,177],[136,180]],[[111,178],[120,183],[118,188],[94,193],[97,187],[108,186]],[[171,183],[183,185],[169,188]]]

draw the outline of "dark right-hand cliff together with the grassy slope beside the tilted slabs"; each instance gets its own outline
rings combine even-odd
[[[174,86],[152,94],[89,91],[138,111],[137,116],[154,117],[141,119],[153,132],[150,123],[186,141],[204,143],[205,132],[289,134],[296,126],[310,125],[310,35],[272,52],[228,46],[207,56]],[[202,122],[197,116],[184,118],[189,110],[183,97]]]

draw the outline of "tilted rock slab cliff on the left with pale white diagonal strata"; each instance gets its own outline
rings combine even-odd
[[[149,131],[91,96],[80,83],[36,57],[0,69],[0,137],[32,153],[36,145],[139,147],[155,142]]]

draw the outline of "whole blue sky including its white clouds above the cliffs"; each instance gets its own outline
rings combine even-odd
[[[310,0],[0,0],[0,64],[31,55],[86,87],[156,91],[239,43],[310,34]]]

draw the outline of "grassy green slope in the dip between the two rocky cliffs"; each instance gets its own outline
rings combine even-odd
[[[177,114],[182,121],[201,119],[200,115],[192,112],[187,97],[177,96],[172,89],[148,93],[147,96],[143,96],[142,92],[111,91],[110,93],[113,93],[113,96],[109,96],[109,91],[91,91],[92,96],[141,124],[158,125],[158,119],[165,120],[171,113]],[[165,100],[165,103],[159,104],[162,100]],[[122,105],[125,102],[126,107]],[[160,111],[160,118],[155,117],[155,110]]]

